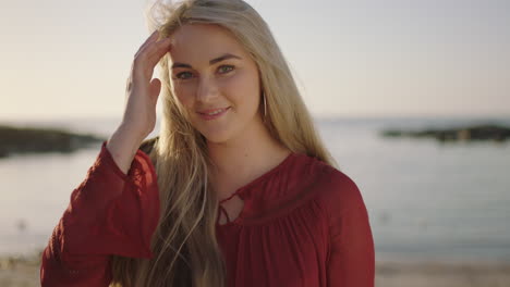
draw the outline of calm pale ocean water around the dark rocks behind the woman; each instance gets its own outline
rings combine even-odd
[[[119,121],[11,123],[108,137]],[[377,260],[510,262],[510,141],[439,144],[379,136],[384,128],[478,123],[510,126],[510,118],[316,118],[339,169],[362,192]],[[0,254],[47,245],[99,148],[0,160]]]

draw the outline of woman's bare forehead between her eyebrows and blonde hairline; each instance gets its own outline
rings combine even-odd
[[[208,24],[186,24],[171,36],[171,62],[207,63],[224,53],[246,57],[244,48],[226,28]]]

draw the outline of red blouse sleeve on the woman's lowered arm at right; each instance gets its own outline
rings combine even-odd
[[[328,286],[374,287],[375,251],[368,212],[356,184],[333,171],[324,205],[329,219]]]

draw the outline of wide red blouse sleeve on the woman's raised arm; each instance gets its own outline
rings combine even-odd
[[[137,150],[126,174],[102,142],[42,252],[42,286],[108,286],[110,255],[151,258],[159,220],[157,176]]]

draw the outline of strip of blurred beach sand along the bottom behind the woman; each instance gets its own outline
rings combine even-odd
[[[40,253],[0,257],[0,286],[40,286]],[[510,263],[377,262],[377,287],[508,287]]]

